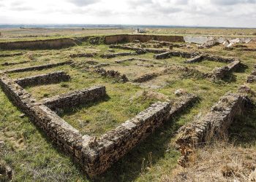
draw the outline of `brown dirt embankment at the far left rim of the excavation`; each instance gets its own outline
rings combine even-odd
[[[0,50],[50,50],[71,47],[75,46],[75,44],[75,40],[69,38],[36,41],[12,41],[1,42]]]

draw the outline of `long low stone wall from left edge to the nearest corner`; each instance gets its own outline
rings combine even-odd
[[[80,135],[78,130],[71,127],[47,106],[39,104],[36,100],[6,75],[1,75],[0,85],[6,95],[18,106],[34,124],[45,131],[46,135],[61,148],[62,151],[82,161],[81,149],[86,145],[89,136]]]

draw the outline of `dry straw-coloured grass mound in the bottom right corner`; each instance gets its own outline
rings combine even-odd
[[[256,167],[255,148],[217,142],[195,151],[189,167],[177,166],[162,181],[248,181]]]

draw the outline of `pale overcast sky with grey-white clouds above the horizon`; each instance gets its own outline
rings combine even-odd
[[[256,28],[256,0],[0,0],[0,23]]]

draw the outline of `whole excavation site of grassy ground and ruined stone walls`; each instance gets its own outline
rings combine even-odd
[[[0,181],[256,181],[254,36],[12,33]]]

